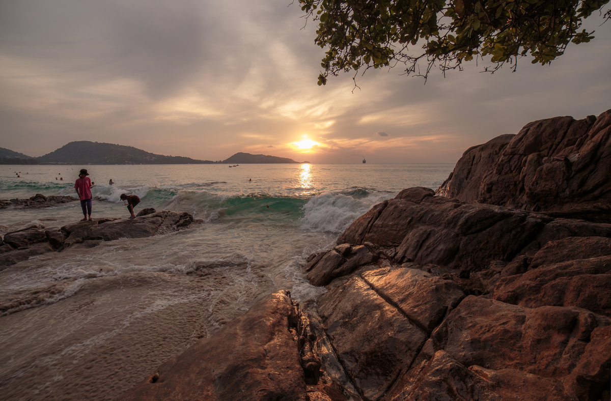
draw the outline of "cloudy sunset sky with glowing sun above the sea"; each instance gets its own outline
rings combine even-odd
[[[194,159],[456,162],[526,123],[611,108],[611,21],[541,67],[401,68],[316,85],[323,49],[290,0],[0,2],[0,147],[74,140]],[[354,89],[354,90],[353,90]]]

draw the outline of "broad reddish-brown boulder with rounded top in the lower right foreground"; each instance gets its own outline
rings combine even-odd
[[[419,358],[443,349],[465,366],[562,378],[579,361],[592,330],[609,324],[580,308],[530,309],[471,295],[433,332]]]

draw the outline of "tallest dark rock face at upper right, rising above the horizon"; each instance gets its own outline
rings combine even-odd
[[[552,215],[611,222],[611,110],[556,117],[467,150],[437,193]]]

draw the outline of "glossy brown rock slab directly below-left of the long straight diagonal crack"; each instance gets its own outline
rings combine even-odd
[[[367,400],[380,399],[426,333],[356,277],[318,300],[318,313],[346,374]]]

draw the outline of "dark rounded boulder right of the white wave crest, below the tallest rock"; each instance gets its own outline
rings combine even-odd
[[[442,197],[425,197],[420,202],[395,198],[355,220],[337,242],[371,242],[397,264],[477,271],[492,260],[513,259],[549,220],[529,212]]]

